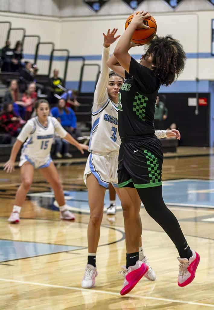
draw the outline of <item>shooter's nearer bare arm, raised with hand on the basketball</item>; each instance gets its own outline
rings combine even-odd
[[[129,73],[131,55],[128,53],[130,41],[133,33],[135,32],[137,27],[149,29],[149,26],[143,24],[145,18],[150,17],[151,15],[148,12],[140,12],[139,14],[135,14],[131,23],[126,28],[122,36],[120,37],[117,46],[114,50],[114,56],[121,64],[121,66]]]

